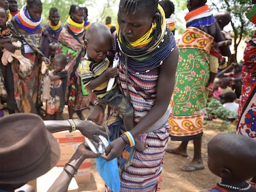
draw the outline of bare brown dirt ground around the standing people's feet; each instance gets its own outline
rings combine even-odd
[[[87,117],[88,113],[90,113],[90,111],[83,111],[85,117]],[[68,118],[66,112],[64,112],[64,118]],[[74,118],[76,118],[76,116],[74,116]],[[184,172],[181,170],[182,165],[190,162],[193,157],[194,147],[192,141],[190,141],[188,145],[189,157],[182,157],[166,152],[164,155],[164,169],[161,175],[163,181],[159,183],[161,192],[202,192],[220,181],[220,179],[213,175],[207,167],[207,143],[213,136],[223,132],[223,130],[218,128],[221,126],[221,123],[221,120],[213,120],[213,122],[207,122],[204,125],[202,157],[205,169],[195,172]],[[227,127],[229,127],[230,131],[230,128],[232,129],[233,125]],[[168,148],[176,148],[179,143],[180,141],[169,140]],[[102,192],[105,191],[104,189],[104,182],[100,175],[98,175],[95,161],[92,159],[91,181],[90,183],[79,184],[79,191]]]

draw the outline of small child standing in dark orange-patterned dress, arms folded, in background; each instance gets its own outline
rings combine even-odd
[[[53,72],[49,72],[51,80],[51,91],[49,99],[46,103],[46,113],[49,119],[63,120],[62,111],[65,106],[65,91],[67,87],[67,71],[65,66],[67,64],[66,56],[59,54],[53,59]]]

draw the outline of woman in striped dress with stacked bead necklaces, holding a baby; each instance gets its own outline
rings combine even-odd
[[[108,128],[113,141],[103,157],[109,161],[124,155],[121,191],[156,191],[168,144],[178,50],[158,0],[121,0],[117,17],[114,47],[120,62],[116,78],[134,107],[134,128],[121,135],[122,130],[114,130],[118,122],[112,123]],[[89,119],[99,123],[102,117],[103,108],[96,105]],[[137,137],[147,148],[137,151],[127,135],[130,141]]]

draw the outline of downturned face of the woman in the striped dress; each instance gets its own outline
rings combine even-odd
[[[137,10],[135,14],[126,14],[124,11],[119,10],[117,22],[126,41],[134,42],[150,30],[154,18],[141,10]]]

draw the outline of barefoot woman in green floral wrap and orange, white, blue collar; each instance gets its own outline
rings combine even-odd
[[[220,27],[206,5],[207,0],[188,0],[189,13],[185,16],[186,31],[179,40],[179,62],[173,91],[173,113],[169,119],[171,140],[182,141],[168,152],[187,156],[187,144],[194,142],[194,157],[182,170],[204,169],[201,145],[203,115],[207,104],[209,80],[209,56],[211,44],[224,41]],[[220,48],[230,54],[228,46]]]

